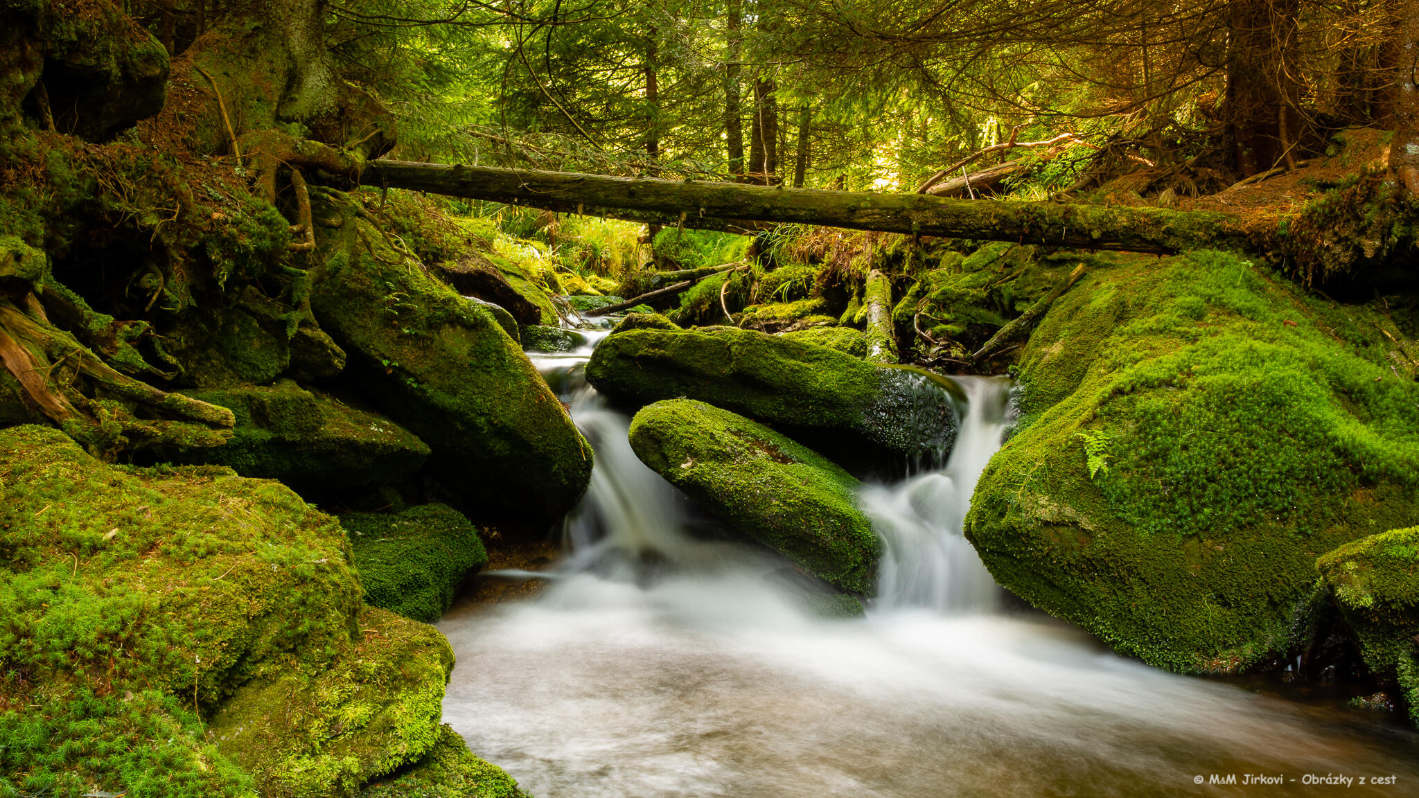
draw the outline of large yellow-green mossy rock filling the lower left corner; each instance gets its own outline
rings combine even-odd
[[[335,520],[230,469],[105,466],[44,426],[0,430],[0,772],[21,792],[250,795],[194,709],[359,633]]]

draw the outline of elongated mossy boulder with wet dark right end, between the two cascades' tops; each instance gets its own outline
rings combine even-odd
[[[951,399],[921,375],[734,327],[617,328],[592,354],[586,379],[622,402],[685,396],[809,434],[850,433],[912,459],[955,440]]]

